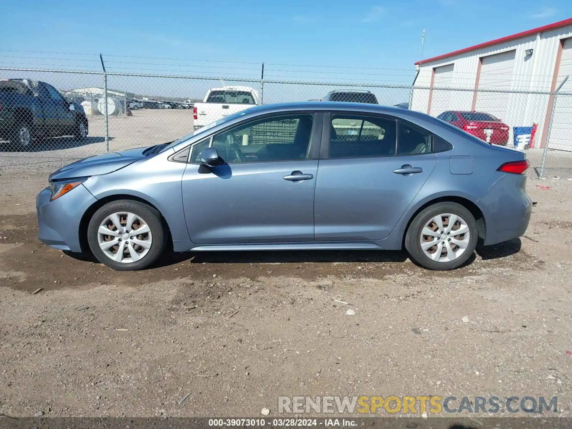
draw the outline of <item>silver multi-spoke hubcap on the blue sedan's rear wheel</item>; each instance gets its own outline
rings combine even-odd
[[[470,231],[460,216],[442,213],[427,221],[421,231],[421,248],[427,257],[437,262],[450,262],[468,247]]]

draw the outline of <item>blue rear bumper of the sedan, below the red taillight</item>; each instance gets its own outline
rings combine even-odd
[[[512,240],[526,232],[533,205],[525,186],[524,174],[505,173],[479,200],[486,227],[484,245]]]

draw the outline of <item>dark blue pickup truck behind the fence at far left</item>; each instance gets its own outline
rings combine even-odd
[[[24,149],[34,138],[61,136],[88,136],[88,120],[79,103],[67,101],[46,82],[0,80],[0,140]]]

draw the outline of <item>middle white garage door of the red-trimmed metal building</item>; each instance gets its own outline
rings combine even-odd
[[[510,90],[513,82],[514,55],[516,51],[483,57],[480,67],[479,89]],[[500,119],[507,118],[509,94],[479,92],[475,110],[489,113]]]

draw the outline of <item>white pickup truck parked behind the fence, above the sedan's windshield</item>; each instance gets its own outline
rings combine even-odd
[[[249,86],[223,86],[206,92],[202,103],[193,106],[193,128],[215,122],[225,116],[259,104],[257,90]]]

